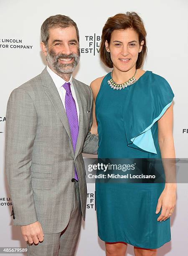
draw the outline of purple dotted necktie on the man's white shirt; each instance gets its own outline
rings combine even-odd
[[[77,115],[77,110],[76,110],[76,103],[75,103],[74,98],[72,97],[71,84],[69,82],[64,83],[63,87],[66,90],[66,95],[65,95],[66,116],[69,121],[69,127],[70,127],[71,137],[72,137],[72,144],[73,144],[73,149],[75,152],[76,141],[77,141],[78,133],[79,133],[79,123],[78,123],[78,115]],[[78,180],[76,166],[74,168],[74,179]]]

